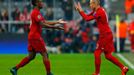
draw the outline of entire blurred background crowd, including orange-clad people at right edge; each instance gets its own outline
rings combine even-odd
[[[1,0],[3,2],[5,0]],[[22,2],[23,0],[14,0]],[[24,0],[25,1],[25,0]],[[29,0],[28,0],[29,1]],[[76,0],[77,1],[77,0]],[[86,13],[91,12],[89,9],[89,0],[78,0],[81,2]],[[101,6],[105,6],[106,1],[100,0]],[[55,3],[55,4],[54,4]],[[134,9],[134,0],[126,0],[124,2],[126,15],[132,15]],[[23,23],[0,23],[0,33],[9,32],[9,25],[11,25],[10,32],[24,34],[28,30],[30,21],[30,3],[24,5],[22,8],[15,5],[9,12],[8,8],[0,10],[0,21],[22,21]],[[45,41],[49,46],[51,52],[58,53],[88,53],[94,52],[96,42],[99,37],[98,28],[95,21],[85,22],[78,15],[73,7],[73,0],[45,0],[45,9],[42,15],[46,20],[55,20],[63,18],[68,23],[64,25],[65,31],[43,29]],[[10,16],[9,16],[9,13]],[[55,14],[56,13],[56,14]],[[75,15],[75,17],[74,17]],[[120,50],[125,51],[125,40],[131,41],[131,50],[134,52],[134,18],[131,21],[122,19],[119,24],[119,35],[116,36],[116,25],[114,28],[115,38],[120,39]],[[116,47],[116,39],[115,39]],[[48,49],[49,49],[48,48]]]

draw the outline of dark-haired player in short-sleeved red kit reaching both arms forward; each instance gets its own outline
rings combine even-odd
[[[64,29],[61,26],[54,26],[55,24],[64,24],[66,23],[63,20],[48,22],[46,21],[40,13],[40,9],[43,8],[42,0],[31,0],[34,9],[31,12],[31,25],[30,31],[28,34],[28,52],[29,55],[25,57],[19,64],[13,67],[10,72],[12,75],[17,75],[17,71],[28,64],[31,60],[33,60],[36,56],[36,53],[40,53],[43,57],[43,63],[46,68],[47,75],[53,75],[50,69],[50,61],[48,58],[47,50],[45,47],[45,43],[43,38],[41,37],[42,27],[47,28],[56,28],[56,29]]]

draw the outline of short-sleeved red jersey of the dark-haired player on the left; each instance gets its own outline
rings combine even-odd
[[[28,39],[39,39],[42,34],[42,26],[39,22],[45,21],[43,16],[40,13],[40,10],[34,8],[31,12],[31,25],[30,25],[30,32],[28,35]]]

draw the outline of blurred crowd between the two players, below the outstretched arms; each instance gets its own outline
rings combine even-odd
[[[94,25],[94,26],[93,26]],[[47,30],[47,44],[59,48],[62,53],[88,53],[96,48],[98,29],[95,24],[84,20],[70,21],[64,25],[65,31]],[[93,32],[94,31],[94,32]]]

